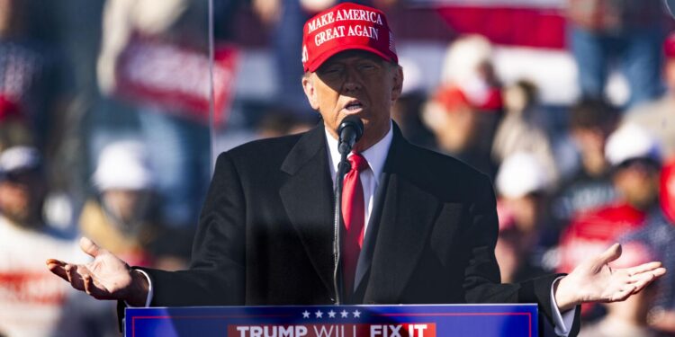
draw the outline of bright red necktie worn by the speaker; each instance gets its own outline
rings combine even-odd
[[[342,185],[342,217],[345,222],[345,236],[342,241],[342,278],[345,292],[351,294],[354,291],[358,255],[364,244],[365,202],[359,173],[368,168],[368,162],[357,153],[352,153],[347,161],[352,168],[345,175]]]

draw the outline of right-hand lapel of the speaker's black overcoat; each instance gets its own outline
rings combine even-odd
[[[364,261],[359,259],[359,265],[365,264],[365,267],[361,266],[365,268],[360,274],[362,277],[370,267],[365,303],[399,302],[440,212],[442,205],[437,198],[415,185],[414,160],[414,149],[394,127],[392,146],[383,171],[386,176],[379,186],[379,189],[386,189],[381,197],[382,214],[377,227],[370,228],[376,229],[376,233],[367,238],[370,241],[366,248],[372,249],[372,257],[365,254]],[[372,261],[365,261],[369,259]]]

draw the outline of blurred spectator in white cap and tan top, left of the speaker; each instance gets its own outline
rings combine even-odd
[[[146,146],[134,140],[105,146],[93,182],[97,194],[82,210],[82,235],[133,265],[166,270],[187,266],[191,241],[161,224],[161,200]]]

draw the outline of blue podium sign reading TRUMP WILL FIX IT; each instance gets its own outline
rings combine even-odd
[[[127,337],[537,335],[536,305],[127,308]]]

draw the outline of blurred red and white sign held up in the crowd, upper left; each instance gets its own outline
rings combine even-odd
[[[234,46],[215,46],[211,68],[205,50],[133,35],[116,60],[114,93],[130,102],[209,123],[212,70],[213,121],[221,124],[234,94],[238,54]]]

